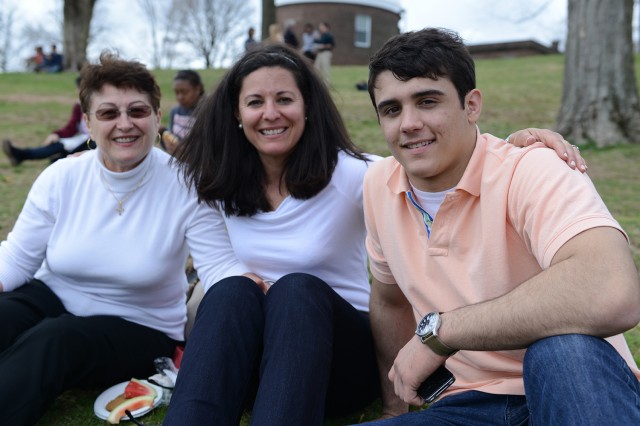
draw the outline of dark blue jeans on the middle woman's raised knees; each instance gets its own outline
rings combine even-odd
[[[264,295],[245,277],[205,294],[165,425],[321,425],[380,395],[368,314],[302,273]]]

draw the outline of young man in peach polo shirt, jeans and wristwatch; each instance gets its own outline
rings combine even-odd
[[[480,134],[453,33],[396,36],[369,70],[393,154],[364,187],[381,424],[640,424],[638,272],[589,178]],[[445,362],[453,385],[403,414]]]

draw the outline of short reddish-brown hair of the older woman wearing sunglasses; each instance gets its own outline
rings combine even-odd
[[[155,112],[160,109],[160,87],[153,74],[137,61],[121,59],[108,50],[100,54],[99,64],[85,64],[80,71],[80,106],[89,112],[91,97],[107,84],[118,89],[135,89],[149,96]]]

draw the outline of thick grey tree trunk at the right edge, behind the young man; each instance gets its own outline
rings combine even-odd
[[[634,0],[569,0],[558,132],[580,145],[640,143]]]

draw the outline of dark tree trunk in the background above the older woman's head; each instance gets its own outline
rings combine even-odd
[[[89,27],[96,0],[64,0],[64,69],[77,71],[87,61]]]

